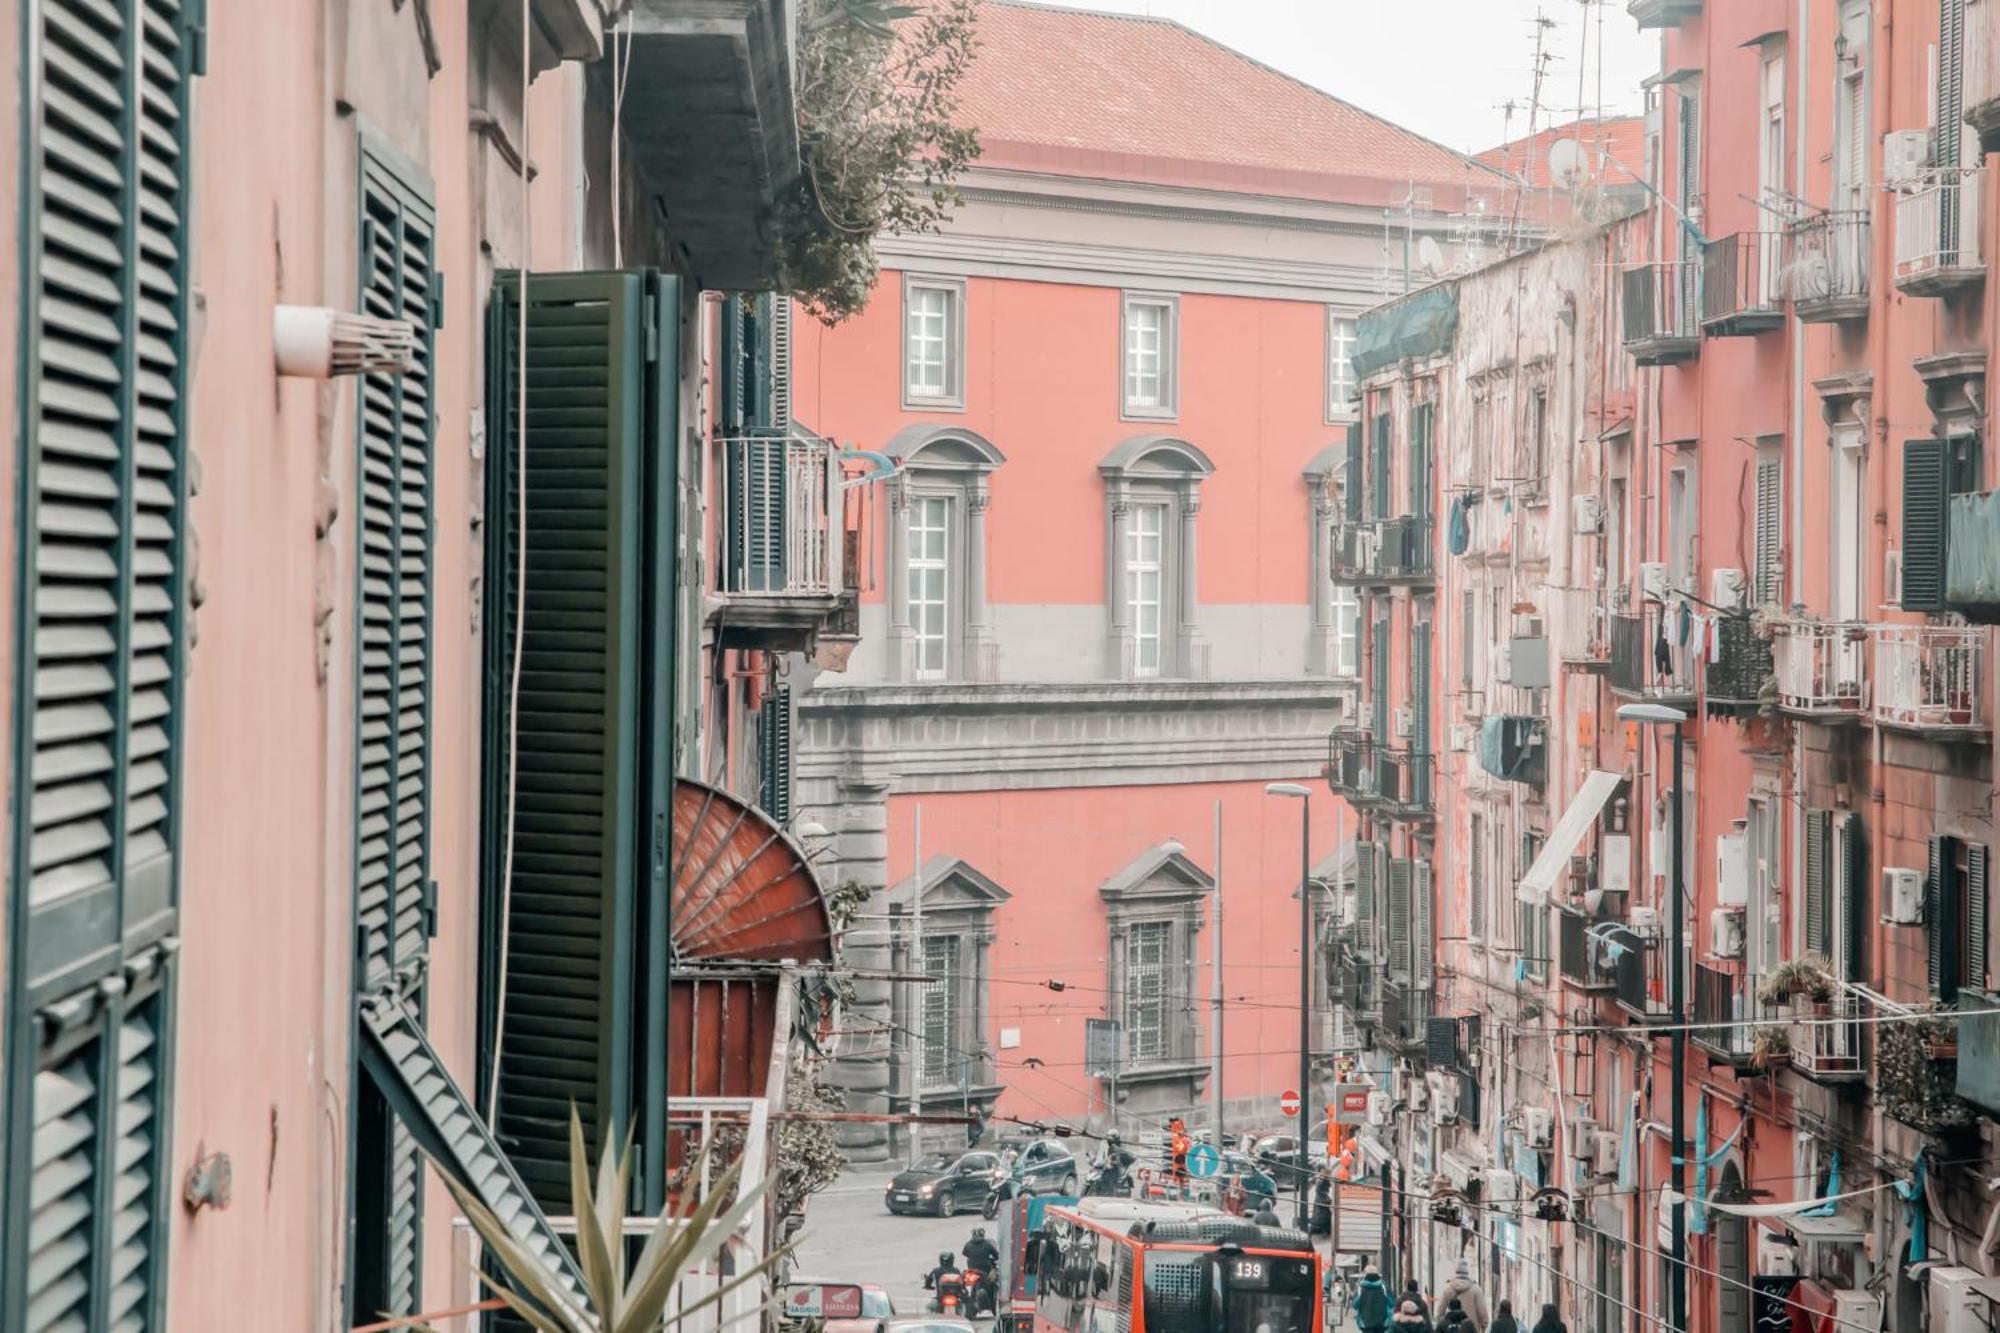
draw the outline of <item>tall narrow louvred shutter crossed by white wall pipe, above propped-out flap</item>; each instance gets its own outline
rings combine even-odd
[[[360,987],[428,953],[434,214],[362,154],[362,310],[418,330],[414,368],[360,376],[354,877]]]

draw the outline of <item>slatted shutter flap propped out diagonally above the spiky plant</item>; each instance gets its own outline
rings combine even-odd
[[[584,1305],[584,1285],[570,1251],[402,1001],[384,997],[362,1005],[360,1055],[368,1077],[430,1161],[486,1205],[508,1235]]]

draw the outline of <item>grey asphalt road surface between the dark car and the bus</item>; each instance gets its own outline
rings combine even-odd
[[[890,1171],[862,1167],[812,1197],[806,1229],[798,1239],[794,1273],[856,1283],[876,1283],[890,1293],[898,1315],[924,1313],[924,1273],[942,1251],[956,1257],[974,1227],[994,1235],[978,1213],[958,1217],[894,1217],[882,1207]]]

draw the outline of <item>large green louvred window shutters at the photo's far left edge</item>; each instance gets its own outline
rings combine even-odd
[[[192,0],[28,0],[0,1327],[164,1323]]]

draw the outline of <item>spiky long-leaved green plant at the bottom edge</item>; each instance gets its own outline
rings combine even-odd
[[[708,1149],[690,1167],[688,1179],[706,1175]],[[508,1283],[486,1277],[480,1279],[494,1289],[508,1307],[528,1321],[536,1333],[660,1333],[678,1327],[690,1315],[698,1315],[710,1305],[720,1305],[730,1293],[746,1283],[768,1275],[786,1255],[778,1249],[752,1269],[708,1293],[700,1301],[668,1315],[668,1301],[690,1269],[706,1263],[736,1235],[736,1229],[756,1207],[772,1179],[744,1185],[742,1159],[720,1173],[702,1197],[686,1191],[678,1211],[666,1209],[652,1225],[646,1247],[638,1261],[626,1271],[626,1197],[632,1183],[632,1145],[612,1153],[606,1143],[598,1157],[596,1189],[590,1185],[590,1149],[584,1145],[584,1123],[570,1107],[570,1197],[576,1209],[576,1259],[584,1275],[588,1307],[578,1305],[556,1273],[548,1271],[534,1251],[522,1245],[492,1215],[484,1203],[464,1191],[448,1173],[444,1183],[464,1211],[466,1221],[480,1233],[480,1243],[492,1261],[506,1273]],[[770,1301],[766,1301],[766,1307]],[[424,1327],[424,1325],[412,1325]],[[434,1331],[432,1331],[434,1333]]]

